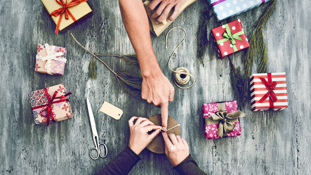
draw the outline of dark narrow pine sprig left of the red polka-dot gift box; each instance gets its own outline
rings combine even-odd
[[[201,22],[198,30],[198,57],[200,63],[204,65],[204,55],[206,53],[207,45],[208,45],[208,37],[207,37],[207,20],[209,19],[209,14],[207,9],[202,10]]]

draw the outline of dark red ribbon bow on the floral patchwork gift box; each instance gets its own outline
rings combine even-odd
[[[40,106],[36,106],[36,107],[33,107],[32,109],[35,110],[35,109],[39,109],[39,108],[42,108],[42,107],[46,107],[48,109],[48,114],[47,114],[47,126],[49,126],[50,124],[50,116],[52,118],[52,121],[54,120],[54,116],[53,116],[53,112],[52,112],[52,104],[54,103],[60,103],[60,102],[65,102],[67,99],[66,97],[68,95],[71,95],[72,93],[69,92],[65,95],[62,95],[62,96],[59,96],[59,97],[56,97],[58,91],[55,91],[52,98],[50,99],[50,96],[49,96],[49,93],[48,93],[48,89],[47,88],[44,88],[44,91],[45,91],[45,95],[47,96],[48,98],[48,104],[45,104],[45,105],[40,105]],[[60,99],[58,101],[54,101],[55,99]],[[44,108],[41,112],[45,111],[46,108]],[[41,112],[39,114],[41,114]]]

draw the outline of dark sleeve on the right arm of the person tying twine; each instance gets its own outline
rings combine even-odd
[[[190,154],[184,161],[182,161],[177,166],[175,166],[174,169],[176,169],[177,172],[180,174],[205,174],[206,175],[206,173],[198,167],[197,162],[191,157]]]

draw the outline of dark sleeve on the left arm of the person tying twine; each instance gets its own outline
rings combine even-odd
[[[141,158],[126,146],[97,174],[127,174]]]

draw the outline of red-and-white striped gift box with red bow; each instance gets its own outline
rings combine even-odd
[[[250,79],[250,93],[252,111],[287,108],[285,72],[253,74]]]

